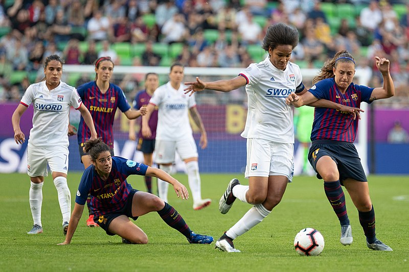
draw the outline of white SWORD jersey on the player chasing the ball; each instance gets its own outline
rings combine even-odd
[[[250,64],[240,76],[247,81],[247,119],[241,136],[294,143],[292,106],[285,103],[291,92],[304,90],[300,67],[287,63],[276,68],[268,58]]]

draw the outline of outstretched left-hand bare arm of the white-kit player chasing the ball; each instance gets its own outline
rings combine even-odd
[[[185,82],[185,85],[189,85],[185,89],[185,93],[190,92],[190,95],[192,95],[194,92],[202,91],[205,89],[221,91],[221,92],[230,92],[246,84],[247,84],[247,81],[242,76],[237,76],[234,79],[218,80],[218,81],[212,81],[212,82],[203,82],[198,77],[196,77],[195,82]]]

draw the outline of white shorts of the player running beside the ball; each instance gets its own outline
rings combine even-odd
[[[247,139],[245,177],[285,176],[291,182],[294,171],[294,144],[264,139]]]

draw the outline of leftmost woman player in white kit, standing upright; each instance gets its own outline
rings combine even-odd
[[[68,171],[68,125],[70,107],[81,112],[91,130],[91,139],[97,138],[94,122],[89,111],[82,104],[74,87],[61,81],[62,60],[57,55],[46,58],[44,80],[31,84],[21,98],[20,104],[11,117],[14,140],[17,144],[26,141],[20,129],[20,119],[30,104],[34,107],[33,128],[27,147],[27,168],[30,176],[30,208],[34,226],[28,234],[42,233],[41,205],[44,176],[50,166],[58,201],[62,213],[62,230],[68,229],[71,215],[71,194],[67,186]]]

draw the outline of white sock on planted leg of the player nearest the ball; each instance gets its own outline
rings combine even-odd
[[[237,187],[237,185],[235,187]],[[261,204],[253,206],[233,227],[230,228],[230,230],[226,231],[226,235],[232,239],[236,239],[238,236],[244,234],[249,229],[263,221],[270,212],[271,211],[264,208]]]

